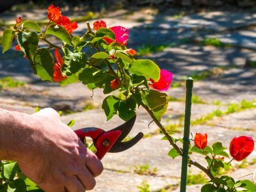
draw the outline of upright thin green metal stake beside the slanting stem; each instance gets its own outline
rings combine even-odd
[[[187,172],[188,172],[188,148],[189,148],[189,132],[190,132],[190,117],[191,117],[191,99],[193,79],[188,77],[186,80],[186,109],[184,122],[184,137],[183,137],[183,152],[182,152],[182,166],[180,179],[180,192],[186,192]]]

